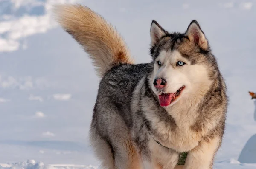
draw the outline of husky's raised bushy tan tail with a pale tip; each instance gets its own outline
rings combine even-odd
[[[133,63],[120,34],[101,15],[71,4],[57,5],[53,11],[58,23],[90,55],[98,76],[104,76],[113,66]]]

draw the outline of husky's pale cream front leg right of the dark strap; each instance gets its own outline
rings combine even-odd
[[[221,138],[206,138],[192,149],[186,158],[183,169],[212,169],[215,152],[220,146]]]

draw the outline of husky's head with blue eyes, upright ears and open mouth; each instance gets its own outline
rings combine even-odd
[[[169,33],[153,20],[150,35],[154,71],[149,81],[160,105],[203,96],[218,66],[198,22],[193,20],[185,33]]]

